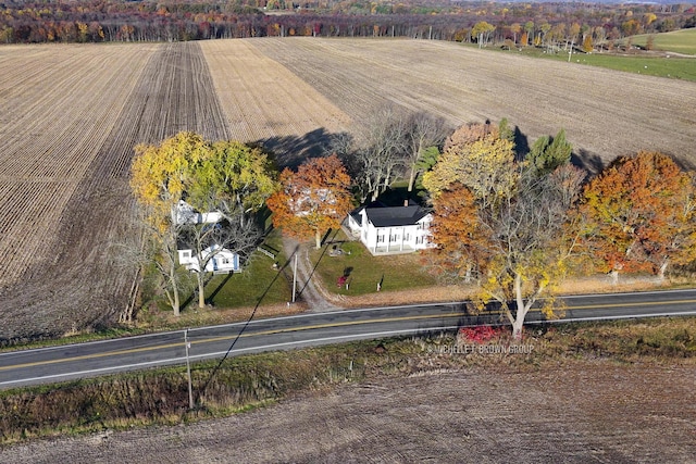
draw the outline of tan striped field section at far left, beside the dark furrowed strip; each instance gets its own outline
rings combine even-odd
[[[0,287],[58,254],[52,237],[60,218],[137,81],[137,73],[124,71],[148,55],[123,47],[16,51],[4,57],[0,81],[7,89],[0,93],[9,96],[0,100],[8,117],[0,126],[0,181],[18,183],[5,203],[12,221],[0,241]]]

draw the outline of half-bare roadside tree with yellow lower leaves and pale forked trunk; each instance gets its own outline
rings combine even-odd
[[[514,338],[521,338],[526,314],[542,298],[544,314],[554,315],[556,287],[566,276],[576,243],[577,231],[569,227],[570,209],[584,177],[582,170],[570,164],[540,178],[525,172],[515,196],[480,211],[489,237],[489,260],[475,300],[499,302]]]

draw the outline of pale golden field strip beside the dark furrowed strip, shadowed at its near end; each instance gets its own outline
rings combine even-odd
[[[343,111],[253,41],[208,40],[201,49],[232,137],[263,143],[279,164],[323,154],[328,137],[348,129]]]

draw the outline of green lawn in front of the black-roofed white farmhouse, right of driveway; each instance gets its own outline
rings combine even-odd
[[[378,281],[383,291],[436,285],[435,278],[425,272],[418,253],[373,256],[361,242],[348,241],[343,230],[331,238],[333,242],[321,250],[313,250],[310,259],[312,263],[319,262],[316,276],[332,292],[346,296],[372,293],[376,291]],[[334,246],[345,253],[331,256],[330,250]],[[337,286],[343,275],[348,276],[348,290],[345,286]]]

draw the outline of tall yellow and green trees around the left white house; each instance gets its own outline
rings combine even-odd
[[[276,190],[275,167],[260,149],[237,141],[212,143],[184,131],[160,145],[139,145],[132,165],[130,187],[142,225],[152,243],[152,262],[164,278],[164,292],[178,315],[181,274],[177,243],[184,239],[204,269],[220,250],[237,254],[256,243],[256,225],[248,213],[259,210]],[[179,201],[199,212],[224,217],[216,227],[179,217]],[[209,248],[214,242],[215,247]],[[198,272],[199,306],[204,305],[204,273]]]

